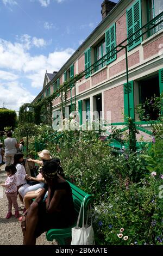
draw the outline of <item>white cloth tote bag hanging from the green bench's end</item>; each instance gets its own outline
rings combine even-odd
[[[85,199],[85,198],[84,198]],[[83,223],[82,228],[79,227],[79,220],[83,206]],[[84,225],[84,200],[80,207],[78,221],[76,227],[72,228],[72,241],[71,245],[95,245],[95,237],[94,231],[92,227],[92,216],[91,216],[91,225],[88,226],[87,220],[89,216],[89,212],[91,215],[91,206],[90,209],[87,211],[87,218],[86,218],[86,225]]]

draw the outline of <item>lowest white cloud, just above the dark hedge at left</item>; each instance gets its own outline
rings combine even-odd
[[[23,103],[32,102],[34,95],[30,94],[22,84],[18,82],[0,83],[0,106],[4,106],[9,109],[18,109]],[[5,95],[5,97],[4,97]]]

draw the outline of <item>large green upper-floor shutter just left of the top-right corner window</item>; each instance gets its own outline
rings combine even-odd
[[[133,4],[131,8],[127,11],[127,36],[133,35],[136,31],[141,28],[141,0],[138,0]],[[139,45],[142,41],[141,31],[137,32],[135,35],[131,36],[128,40],[128,50],[133,49],[135,46]]]

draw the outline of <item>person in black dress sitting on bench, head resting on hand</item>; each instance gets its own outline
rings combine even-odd
[[[68,228],[74,222],[72,190],[58,174],[58,163],[46,161],[42,176],[46,184],[22,217],[23,245],[35,245],[36,238],[43,232],[52,228]],[[47,191],[47,200],[42,202]]]

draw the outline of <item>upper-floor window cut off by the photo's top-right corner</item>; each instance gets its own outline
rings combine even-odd
[[[151,21],[159,15],[163,11],[163,1],[162,0],[147,0],[147,21]],[[158,23],[161,18],[158,18],[155,23]],[[148,36],[153,35],[154,33],[158,32],[161,28],[163,28],[163,22],[160,23],[155,28],[151,29],[148,32]]]

